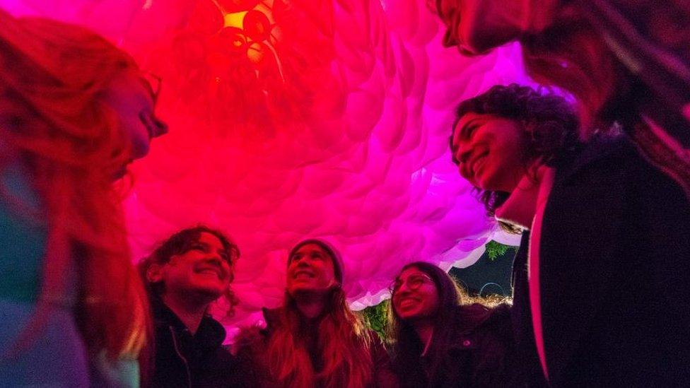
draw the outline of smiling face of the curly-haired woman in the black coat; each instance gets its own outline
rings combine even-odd
[[[452,155],[460,175],[482,190],[513,192],[525,174],[522,124],[469,112],[455,125]]]

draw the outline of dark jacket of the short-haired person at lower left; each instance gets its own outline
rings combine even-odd
[[[226,331],[209,315],[192,335],[163,302],[152,300],[156,329],[151,387],[238,387],[233,356],[223,348]]]

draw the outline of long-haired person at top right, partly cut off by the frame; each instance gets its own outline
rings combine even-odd
[[[535,81],[578,101],[583,139],[613,122],[690,197],[690,6],[653,0],[437,0],[444,44],[522,46]]]

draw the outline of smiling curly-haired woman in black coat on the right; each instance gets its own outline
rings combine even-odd
[[[690,382],[690,304],[672,298],[690,293],[683,190],[623,134],[578,141],[575,113],[555,95],[494,86],[457,117],[460,175],[489,213],[524,230],[513,324],[531,384]]]

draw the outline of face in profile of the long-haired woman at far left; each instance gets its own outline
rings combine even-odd
[[[151,86],[133,71],[115,78],[105,90],[103,100],[115,110],[131,142],[131,159],[146,155],[151,139],[168,132],[168,125],[156,117],[154,98]]]

